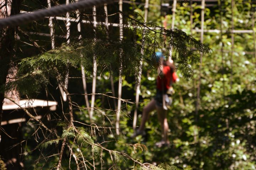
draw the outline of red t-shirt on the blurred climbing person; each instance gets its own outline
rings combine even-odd
[[[162,90],[162,81],[164,81],[164,90],[168,90],[170,88],[170,80],[172,78],[172,82],[174,83],[178,78],[176,72],[171,73],[171,68],[169,66],[165,66],[163,69],[164,77],[161,79],[159,76],[156,79],[156,88],[158,90]],[[171,76],[172,74],[172,76]]]

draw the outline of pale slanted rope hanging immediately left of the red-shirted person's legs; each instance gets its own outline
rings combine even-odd
[[[148,19],[148,4],[149,4],[149,0],[146,0],[146,4],[144,6],[145,8],[145,16],[144,16],[144,20],[145,22],[147,22],[147,19]],[[144,35],[142,35],[144,36]],[[144,39],[142,39],[142,49],[141,49],[141,53],[142,55],[144,54]],[[140,61],[140,66],[142,66],[142,60]],[[137,84],[136,86],[136,96],[135,96],[135,101],[136,101],[136,104],[135,104],[135,111],[134,111],[134,117],[133,117],[133,131],[135,132],[135,129],[136,129],[136,124],[137,124],[137,111],[138,111],[138,106],[139,106],[139,94],[140,94],[140,80],[141,80],[141,74],[142,74],[142,68],[140,67],[140,72],[139,72],[139,77],[138,77],[138,83],[139,85]]]

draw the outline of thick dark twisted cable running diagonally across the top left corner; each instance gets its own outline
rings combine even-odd
[[[31,21],[36,21],[38,19],[43,19],[44,17],[51,17],[58,14],[64,14],[70,11],[82,10],[84,8],[92,8],[94,6],[107,4],[113,0],[84,0],[73,4],[63,4],[58,7],[32,11],[33,13],[22,13],[18,15],[11,16],[10,18],[0,20],[0,28],[7,26],[17,26]]]

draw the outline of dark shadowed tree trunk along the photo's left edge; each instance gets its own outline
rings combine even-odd
[[[12,0],[11,3],[11,13],[9,15],[16,15],[20,13],[21,10],[21,0]],[[17,27],[8,27],[0,30],[1,38],[0,38],[0,89],[6,84],[6,79],[8,76],[14,76],[16,71],[16,63],[15,58],[17,58],[16,54],[16,30]],[[4,91],[0,91],[0,126],[2,121],[2,106],[4,103]],[[5,133],[1,133],[1,143],[0,143],[0,155],[3,158],[6,168],[8,170],[22,170],[23,164],[20,160],[21,154],[21,146],[17,145],[9,151],[6,148],[15,145],[21,142],[21,127],[17,131],[19,124],[10,124],[5,125],[3,128],[11,137],[16,137],[16,139],[11,139]]]

